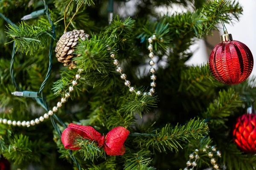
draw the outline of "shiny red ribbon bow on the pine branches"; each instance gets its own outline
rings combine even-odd
[[[106,136],[101,136],[91,126],[76,125],[70,123],[61,135],[61,142],[66,149],[78,150],[80,147],[73,145],[74,138],[81,136],[84,139],[96,141],[99,147],[103,147],[107,155],[117,156],[125,153],[124,142],[130,131],[124,127],[115,127]]]

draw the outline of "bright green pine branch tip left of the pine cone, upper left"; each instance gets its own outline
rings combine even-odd
[[[15,42],[16,51],[20,53],[33,54],[39,47],[46,45],[51,26],[47,20],[38,20],[37,25],[29,26],[21,22],[19,26],[9,25],[7,36]],[[10,42],[9,42],[10,43]]]

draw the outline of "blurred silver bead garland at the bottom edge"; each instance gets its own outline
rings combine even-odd
[[[201,152],[208,152],[208,157],[211,159],[211,164],[213,167],[213,170],[220,170],[219,169],[219,165],[216,163],[217,159],[213,158],[214,154],[216,154],[216,156],[221,157],[221,151],[216,151],[216,147],[211,147],[209,145],[207,145],[203,150],[201,150]],[[189,161],[186,162],[186,167],[183,170],[193,170],[194,167],[197,166],[197,160],[199,159],[198,156],[199,150],[195,149],[195,152],[191,153],[189,155]],[[195,159],[194,161],[192,161],[192,159]],[[192,168],[189,168],[192,167]]]

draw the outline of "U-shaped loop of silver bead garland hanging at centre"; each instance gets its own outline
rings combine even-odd
[[[154,61],[152,60],[152,58],[154,57],[154,53],[152,52],[152,50],[153,50],[152,42],[153,42],[154,40],[156,40],[156,39],[157,39],[157,38],[156,38],[155,35],[152,35],[150,38],[148,38],[148,43],[149,43],[149,45],[148,45],[148,51],[149,51],[148,57],[151,59],[151,60],[148,62],[148,64],[151,65],[151,68],[150,68],[149,72],[151,73],[150,79],[152,80],[152,82],[150,83],[151,88],[150,88],[149,92],[144,92],[144,93],[142,93],[141,91],[136,91],[134,87],[131,87],[131,82],[126,79],[126,74],[123,74],[123,73],[122,73],[122,67],[118,66],[119,61],[115,58],[116,55],[115,55],[114,53],[111,53],[111,54],[110,54],[110,57],[114,59],[113,64],[116,65],[116,72],[120,73],[120,74],[121,74],[121,76],[120,76],[121,79],[125,80],[125,86],[127,86],[127,87],[129,88],[129,91],[130,91],[131,93],[136,93],[138,96],[140,96],[140,95],[142,95],[142,94],[143,94],[143,96],[146,96],[146,95],[150,95],[150,96],[151,96],[151,95],[153,95],[154,92],[155,92],[155,89],[154,89],[154,88],[155,88],[156,85],[157,85],[156,82],[155,82],[155,80],[157,79],[157,77],[156,77],[156,75],[154,74],[154,73],[156,72],[156,70],[153,68],[153,65],[154,65],[155,63],[154,63]],[[160,38],[160,40],[161,40],[161,42],[163,42],[163,38]],[[110,49],[111,49],[111,48],[108,48],[108,50],[110,50]]]

